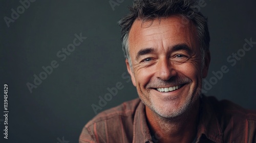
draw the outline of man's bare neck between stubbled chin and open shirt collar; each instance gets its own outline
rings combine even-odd
[[[147,124],[154,142],[192,142],[197,134],[199,99],[185,113],[175,118],[163,118],[147,106]]]

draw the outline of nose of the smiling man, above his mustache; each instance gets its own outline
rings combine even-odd
[[[168,59],[161,59],[157,63],[157,78],[161,80],[169,80],[173,76],[176,76],[177,72],[174,69],[174,66]]]

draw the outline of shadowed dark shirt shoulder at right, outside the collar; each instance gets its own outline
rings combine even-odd
[[[228,100],[219,101],[215,97],[205,97],[205,101],[215,111],[224,140],[256,141],[255,110],[245,109]]]

